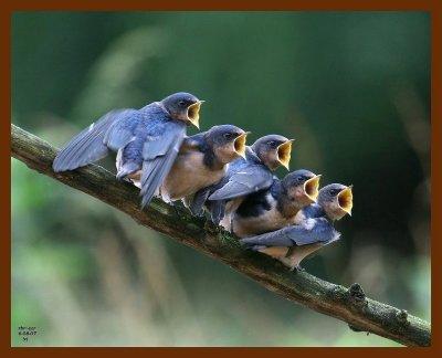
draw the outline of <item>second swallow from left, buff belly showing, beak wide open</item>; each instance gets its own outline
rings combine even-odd
[[[221,125],[186,138],[160,187],[162,200],[170,202],[189,198],[220,181],[229,162],[245,158],[248,134],[239,127]]]

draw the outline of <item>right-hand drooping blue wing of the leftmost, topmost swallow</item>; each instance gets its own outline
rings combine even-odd
[[[185,135],[185,125],[170,122],[165,124],[157,134],[147,136],[143,147],[141,208],[150,202],[170,171]]]

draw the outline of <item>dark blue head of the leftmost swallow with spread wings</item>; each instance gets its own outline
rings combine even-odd
[[[204,101],[198,99],[190,93],[178,92],[161,101],[161,104],[176,120],[183,120],[187,125],[199,128],[200,108]]]

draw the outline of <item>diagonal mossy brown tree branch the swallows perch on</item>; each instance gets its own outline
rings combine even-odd
[[[341,319],[354,330],[373,333],[407,346],[430,346],[429,323],[366,297],[358,284],[346,288],[306,272],[290,272],[265,255],[243,250],[236,239],[209,221],[193,218],[185,210],[177,212],[159,199],[154,199],[141,211],[138,190],[134,186],[118,182],[114,175],[96,165],[55,173],[52,171],[55,155],[56,149],[50,144],[11,125],[11,156],[29,168],[113,206],[141,225],[224,262],[270,291]]]

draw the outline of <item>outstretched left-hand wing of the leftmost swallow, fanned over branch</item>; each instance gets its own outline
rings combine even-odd
[[[82,130],[57,154],[54,171],[73,170],[104,158],[108,150],[118,150],[133,138],[138,110],[116,109]]]

